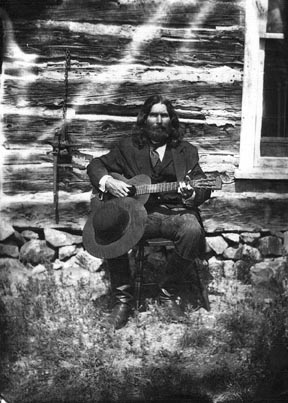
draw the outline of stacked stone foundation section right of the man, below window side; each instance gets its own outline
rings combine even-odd
[[[288,232],[207,235],[210,273],[246,284],[288,290]]]

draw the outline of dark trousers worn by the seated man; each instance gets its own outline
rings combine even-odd
[[[189,210],[166,209],[148,214],[143,237],[167,238],[174,242],[175,254],[182,262],[190,265],[205,250],[205,232],[197,217]],[[179,261],[179,259],[178,259]],[[128,254],[108,260],[112,289],[131,284]],[[171,265],[170,265],[171,266]],[[177,266],[177,265],[176,265]],[[173,270],[173,267],[170,270]],[[179,267],[175,267],[175,271]],[[177,273],[175,273],[177,276]]]

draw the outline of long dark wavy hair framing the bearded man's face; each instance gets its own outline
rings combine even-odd
[[[166,105],[167,112],[170,118],[170,133],[167,144],[170,144],[171,147],[177,147],[182,139],[179,119],[171,102],[167,98],[162,97],[162,95],[152,95],[144,102],[138,114],[137,122],[132,133],[133,142],[139,148],[143,148],[144,145],[149,142],[145,130],[146,121],[153,105],[158,103]]]

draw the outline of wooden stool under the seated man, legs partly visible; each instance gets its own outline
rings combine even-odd
[[[141,307],[142,286],[147,285],[143,284],[145,247],[150,246],[174,247],[174,242],[166,238],[141,239],[137,246],[138,246],[138,256],[136,259],[136,272],[135,272],[135,302],[136,302],[136,310],[139,311]],[[196,275],[201,291],[202,306],[207,311],[210,311],[210,303],[208,299],[207,287],[202,283],[197,269],[196,269]]]

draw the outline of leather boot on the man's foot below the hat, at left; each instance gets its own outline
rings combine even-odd
[[[121,329],[132,314],[133,295],[130,285],[122,285],[114,290],[114,305],[107,319],[102,322],[106,329]]]

